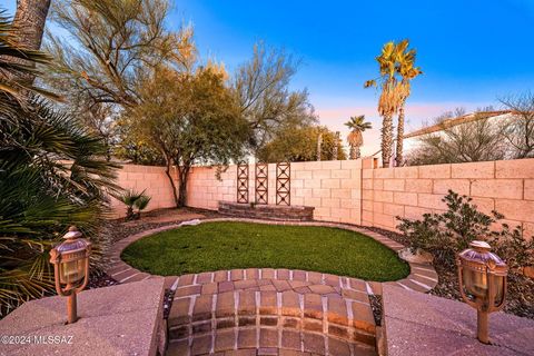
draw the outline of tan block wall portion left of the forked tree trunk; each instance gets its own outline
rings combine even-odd
[[[175,171],[172,171],[172,176],[177,177]],[[165,167],[123,165],[118,172],[117,185],[123,189],[134,189],[139,192],[146,190],[146,194],[152,198],[147,211],[175,206],[172,189],[165,174]],[[111,208],[116,217],[126,215],[126,206],[112,197]]]

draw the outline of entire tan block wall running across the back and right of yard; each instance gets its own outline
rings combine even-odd
[[[291,205],[315,207],[315,218],[395,230],[396,216],[421,218],[445,209],[448,189],[473,197],[484,212],[496,209],[511,226],[534,235],[534,159],[402,168],[372,168],[370,159],[291,164]],[[249,165],[249,201],[255,200],[254,165]],[[216,178],[216,168],[192,168],[187,205],[217,209],[219,200],[236,201],[237,168]],[[268,167],[269,204],[275,204],[276,165]],[[175,174],[176,176],[176,174]],[[152,197],[149,209],[174,206],[162,167],[126,165],[119,185]],[[113,201],[117,215],[126,209]]]

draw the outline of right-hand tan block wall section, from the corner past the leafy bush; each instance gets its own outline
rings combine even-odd
[[[396,216],[419,219],[442,212],[448,189],[467,195],[488,214],[534,235],[534,159],[364,169],[362,224],[396,230]]]

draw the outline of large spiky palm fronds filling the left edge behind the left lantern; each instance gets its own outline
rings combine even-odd
[[[1,315],[53,291],[48,253],[70,225],[92,241],[91,264],[99,267],[107,246],[101,234],[106,196],[118,190],[118,167],[105,159],[103,142],[43,99],[42,90],[19,79],[36,73],[20,58],[49,59],[20,48],[0,17]]]

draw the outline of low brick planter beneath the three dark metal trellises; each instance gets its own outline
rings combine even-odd
[[[241,218],[283,220],[283,221],[312,221],[314,207],[284,206],[284,205],[250,205],[229,201],[219,201],[219,212]]]

